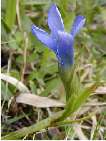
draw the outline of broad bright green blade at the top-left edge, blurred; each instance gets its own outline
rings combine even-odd
[[[16,19],[16,0],[7,0],[5,23],[11,30]]]

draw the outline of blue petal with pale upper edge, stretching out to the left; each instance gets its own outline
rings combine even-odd
[[[46,45],[48,48],[52,49],[53,51],[56,51],[55,43],[54,43],[52,37],[47,32],[45,32],[44,30],[36,27],[35,25],[32,25],[32,33],[44,45]]]

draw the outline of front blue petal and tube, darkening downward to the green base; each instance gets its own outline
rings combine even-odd
[[[60,65],[67,68],[73,64],[73,37],[66,32],[58,32],[57,57]]]

